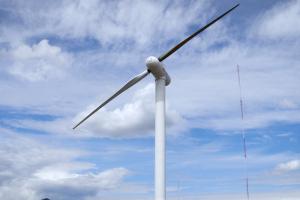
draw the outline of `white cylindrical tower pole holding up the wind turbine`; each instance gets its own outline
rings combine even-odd
[[[155,81],[155,200],[166,199],[166,153],[165,153],[165,88],[163,78]]]

